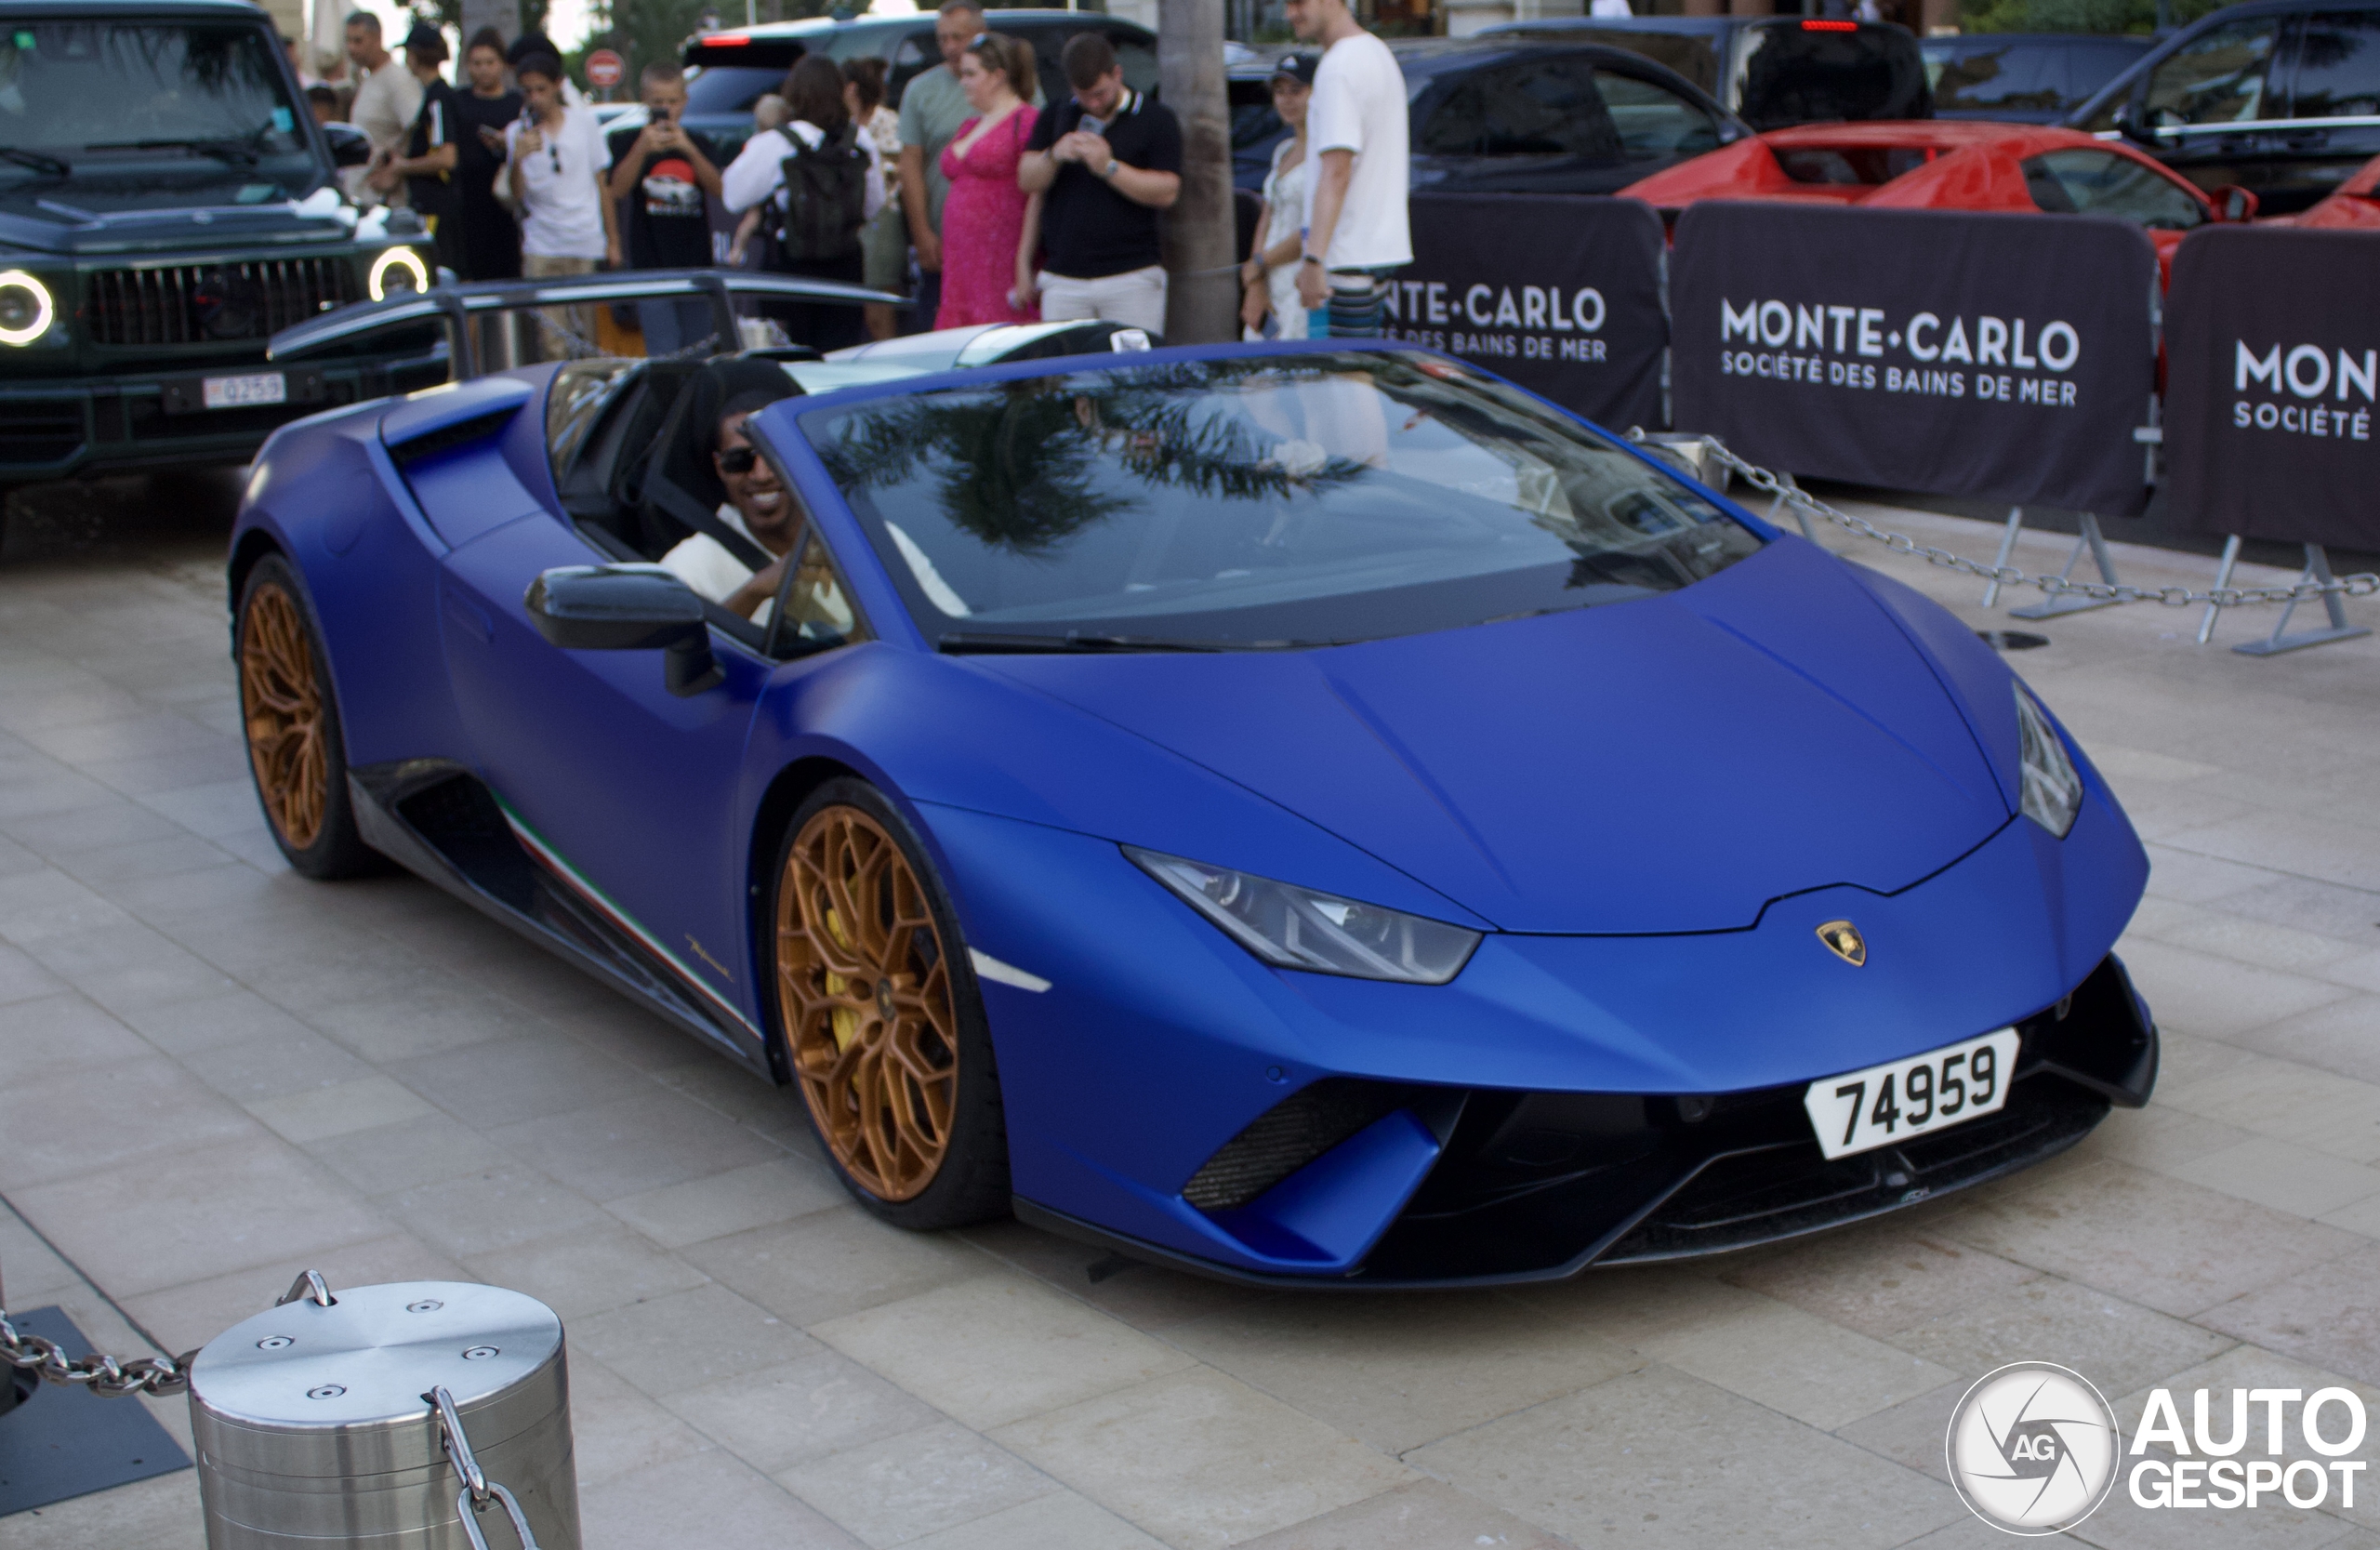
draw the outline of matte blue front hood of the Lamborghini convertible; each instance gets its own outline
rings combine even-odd
[[[978,662],[1504,931],[1735,931],[1790,893],[1909,888],[2011,817],[1944,674],[1797,540],[1680,593],[1428,636]]]

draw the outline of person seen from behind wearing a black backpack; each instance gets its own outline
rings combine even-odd
[[[735,214],[769,205],[776,269],[819,281],[866,281],[862,229],[885,202],[876,140],[843,105],[843,71],[826,55],[804,55],[785,74],[793,119],[745,140],[721,174],[721,198]],[[795,343],[840,350],[866,338],[859,307],[800,302],[785,314]]]

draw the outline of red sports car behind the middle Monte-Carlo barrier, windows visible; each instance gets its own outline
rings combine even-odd
[[[2182,233],[2244,221],[2256,195],[2221,200],[2121,140],[2037,124],[1918,119],[1771,129],[1621,190],[1673,217],[1695,200],[1833,200],[1873,210],[2028,210],[2142,226],[2159,269]]]

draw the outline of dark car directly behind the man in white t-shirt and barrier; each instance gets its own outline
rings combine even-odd
[[[1414,190],[1616,193],[1747,133],[1676,71],[1621,48],[1521,38],[1388,45],[1411,102]],[[1261,188],[1288,129],[1271,76],[1230,79],[1233,181]]]

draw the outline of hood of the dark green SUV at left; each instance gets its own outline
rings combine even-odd
[[[0,250],[159,252],[343,243],[352,233],[355,212],[340,212],[336,190],[290,200],[281,183],[262,174],[198,181],[76,176],[0,190]]]

